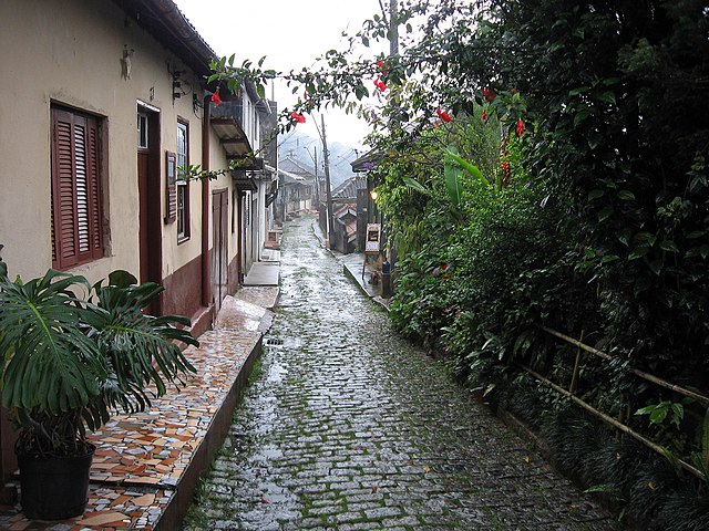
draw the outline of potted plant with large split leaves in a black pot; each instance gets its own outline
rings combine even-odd
[[[189,320],[144,314],[163,288],[136,282],[114,271],[91,285],[55,270],[12,282],[0,259],[0,391],[19,430],[28,518],[83,513],[95,449],[86,430],[114,412],[145,409],[167,383],[195,371],[179,347],[198,344],[179,327]]]

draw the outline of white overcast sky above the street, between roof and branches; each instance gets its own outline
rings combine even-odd
[[[356,33],[366,19],[381,9],[378,0],[175,0],[197,32],[219,55],[236,54],[236,63],[254,62],[266,55],[264,67],[288,72],[312,65],[330,49],[345,49],[342,31]],[[384,2],[386,4],[387,2]],[[377,52],[371,51],[373,56]],[[284,85],[276,86],[278,107],[295,98]],[[317,116],[318,124],[320,122]],[[360,144],[367,134],[363,123],[343,113],[327,111],[328,142]],[[298,125],[317,136],[314,119]]]

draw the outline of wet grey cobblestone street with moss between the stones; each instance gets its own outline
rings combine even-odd
[[[617,529],[390,330],[312,219],[285,227],[264,344],[185,529]]]

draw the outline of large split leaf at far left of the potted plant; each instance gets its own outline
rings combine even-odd
[[[27,283],[0,277],[4,406],[58,414],[99,394],[105,365],[96,343],[78,326],[91,310],[72,287],[90,289],[83,277],[54,270]]]

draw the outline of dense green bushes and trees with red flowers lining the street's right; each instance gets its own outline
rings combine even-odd
[[[359,111],[386,159],[370,178],[402,257],[394,324],[446,351],[463,376],[507,383],[520,361],[568,377],[537,325],[584,330],[614,357],[585,362],[578,393],[613,415],[655,404],[640,409],[649,430],[697,455],[707,429],[690,427],[696,412],[630,369],[707,391],[706,1],[407,2],[402,25],[418,20],[397,56],[331,51],[327,69],[289,76],[308,91],[305,110],[354,110],[368,76],[388,86]],[[350,43],[387,37],[374,17]],[[595,485],[636,465],[618,462]],[[630,512],[702,529],[706,511],[648,487],[667,479],[655,465],[623,480]],[[695,498],[703,508],[706,492]]]

